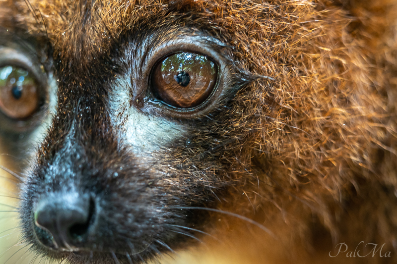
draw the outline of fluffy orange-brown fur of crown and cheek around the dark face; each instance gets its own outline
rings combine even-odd
[[[213,212],[205,232],[215,238],[175,262],[397,261],[396,0],[0,0],[0,26],[83,65],[127,31],[187,27],[224,43],[255,76],[213,125],[226,147],[208,170],[230,185],[217,209],[261,226]],[[391,257],[329,256],[361,241],[385,243]]]

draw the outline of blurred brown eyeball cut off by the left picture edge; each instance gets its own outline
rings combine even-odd
[[[11,118],[24,119],[38,105],[38,84],[33,74],[20,67],[0,67],[0,110]]]

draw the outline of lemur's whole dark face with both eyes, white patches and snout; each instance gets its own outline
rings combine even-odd
[[[198,208],[226,190],[228,148],[240,145],[228,136],[232,101],[259,77],[205,27],[150,18],[117,33],[99,22],[91,35],[70,19],[59,38],[47,27],[34,44],[29,24],[1,29],[1,122],[23,135],[10,144],[36,150],[21,184],[23,236],[51,259],[138,263],[207,224]]]

